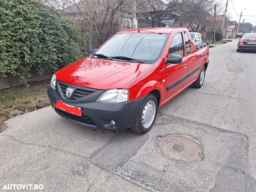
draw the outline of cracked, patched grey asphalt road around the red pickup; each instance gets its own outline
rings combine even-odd
[[[6,121],[0,191],[256,191],[256,53],[237,41],[210,49],[202,88],[159,109],[147,134],[94,130],[51,107]]]

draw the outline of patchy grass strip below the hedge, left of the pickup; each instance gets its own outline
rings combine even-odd
[[[29,86],[17,86],[1,90],[0,110],[25,108],[28,104],[40,98],[48,98],[49,81],[31,83]]]

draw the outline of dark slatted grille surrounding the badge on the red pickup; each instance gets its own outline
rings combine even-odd
[[[82,97],[86,97],[87,95],[90,95],[91,93],[94,93],[96,90],[92,89],[92,88],[86,88],[83,86],[75,86],[73,84],[68,84],[68,83],[63,83],[61,81],[58,81],[58,84],[60,86],[60,93],[67,98],[66,96],[66,92],[67,92],[67,88],[74,88],[75,89],[75,93],[72,95],[72,97],[68,98],[68,99],[80,99]]]

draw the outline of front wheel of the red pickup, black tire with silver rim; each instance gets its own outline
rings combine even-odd
[[[155,95],[149,93],[143,102],[141,102],[131,130],[139,134],[148,132],[156,120],[157,106]]]

